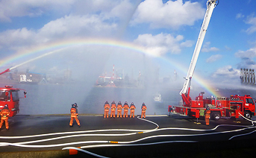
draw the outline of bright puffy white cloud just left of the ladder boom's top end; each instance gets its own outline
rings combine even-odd
[[[205,9],[198,2],[182,0],[167,1],[146,0],[137,7],[133,24],[149,23],[152,28],[174,28],[182,25],[193,25],[196,20],[202,19]]]

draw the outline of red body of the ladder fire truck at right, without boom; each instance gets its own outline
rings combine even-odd
[[[246,118],[255,116],[255,101],[250,95],[231,95],[230,98],[203,98],[203,93],[200,93],[196,100],[190,99],[190,104],[183,104],[183,106],[172,107],[169,106],[169,112],[178,113],[185,116],[204,116],[206,107],[210,107],[210,118],[218,120],[223,116],[240,115]]]

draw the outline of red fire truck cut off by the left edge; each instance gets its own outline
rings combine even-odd
[[[10,72],[10,69],[6,69],[4,72],[1,72],[0,75],[5,72]],[[27,92],[25,92],[25,89],[13,88],[13,86],[0,87],[0,110],[4,108],[5,104],[7,104],[10,110],[9,117],[15,116],[19,113],[19,91],[23,91],[23,98],[26,98]]]

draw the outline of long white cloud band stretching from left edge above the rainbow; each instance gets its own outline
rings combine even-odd
[[[39,30],[27,28],[7,30],[0,33],[0,47],[16,50],[28,45],[43,44],[56,39],[72,37],[113,37],[115,23],[104,22],[101,16],[64,16],[51,21]]]

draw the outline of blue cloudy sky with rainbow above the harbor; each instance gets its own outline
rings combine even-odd
[[[1,0],[0,71],[18,66],[61,75],[71,69],[77,80],[94,80],[114,64],[130,78],[175,71],[183,82],[206,2]],[[198,78],[234,85],[240,68],[256,69],[255,8],[253,0],[219,0],[196,63]]]

